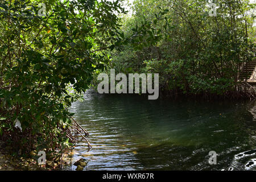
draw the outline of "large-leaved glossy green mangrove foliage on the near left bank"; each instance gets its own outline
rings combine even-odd
[[[68,146],[68,107],[108,61],[98,49],[118,44],[124,11],[118,1],[47,1],[44,14],[40,3],[0,1],[0,137],[22,153]]]

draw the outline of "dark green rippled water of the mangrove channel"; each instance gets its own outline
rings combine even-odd
[[[71,111],[93,148],[77,143],[72,162],[88,159],[87,170],[256,169],[255,102],[148,101],[92,90],[84,98]]]

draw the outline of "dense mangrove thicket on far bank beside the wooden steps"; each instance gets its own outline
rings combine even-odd
[[[167,18],[158,19],[148,30],[151,35],[158,33],[160,42],[149,44],[144,37],[144,47],[128,45],[112,52],[112,67],[124,73],[159,73],[162,96],[247,97],[238,76],[242,65],[255,56],[255,5],[240,0],[213,2],[216,16],[209,16],[208,1],[135,1],[134,14],[123,18],[122,30],[132,35],[136,24],[165,9]]]

